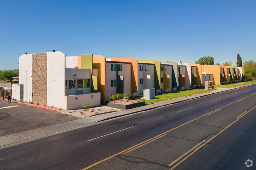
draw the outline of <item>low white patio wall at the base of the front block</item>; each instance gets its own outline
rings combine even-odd
[[[100,93],[70,95],[63,97],[63,99],[63,102],[66,103],[63,107],[65,110],[81,109],[84,103],[90,104],[90,107],[100,106]]]

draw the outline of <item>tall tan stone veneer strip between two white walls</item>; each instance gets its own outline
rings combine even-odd
[[[32,101],[47,104],[47,53],[32,54]]]

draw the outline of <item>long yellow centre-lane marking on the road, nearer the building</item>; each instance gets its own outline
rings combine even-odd
[[[252,95],[255,95],[255,94],[256,94],[256,93],[254,93],[254,94],[252,94]],[[249,96],[247,96],[247,97],[250,97],[250,96],[252,96],[252,95],[249,95]],[[245,98],[247,98],[247,97],[244,97],[243,99],[245,99]],[[240,99],[240,100],[241,100],[241,99]],[[232,102],[232,103],[230,103],[230,104],[234,104],[234,103],[235,103],[235,102]],[[226,107],[226,106],[229,106],[230,104],[227,104],[227,105],[225,105],[225,106],[222,106],[221,108],[224,108],[224,107]],[[211,111],[211,112],[209,112],[209,113],[212,113],[212,112],[215,112],[215,111],[217,111],[217,110],[220,110],[221,108],[218,108],[218,109],[216,109],[216,110],[213,110],[213,111]],[[193,122],[193,121],[195,121],[195,120],[197,120],[197,119],[200,119],[201,117],[204,117],[204,116],[208,115],[209,113],[206,113],[206,114],[204,114],[204,115],[202,115],[202,116],[200,116],[200,117],[197,117],[197,118],[195,118],[195,119],[193,119],[193,120],[191,120],[191,121],[188,121],[188,122],[186,122],[186,123],[184,123],[184,124],[181,124],[180,126],[177,126],[177,127],[173,128],[173,129],[170,129],[170,130],[168,130],[168,131],[166,131],[166,132],[164,132],[164,133],[161,133],[160,135],[157,135],[157,136],[155,136],[155,137],[152,137],[151,139],[148,139],[148,140],[146,140],[146,141],[144,141],[144,142],[141,142],[141,143],[139,143],[139,144],[136,144],[136,145],[134,145],[134,146],[132,146],[132,147],[126,149],[126,150],[123,150],[123,151],[121,151],[121,152],[119,152],[119,153],[117,153],[117,154],[114,154],[114,155],[112,155],[112,156],[110,156],[110,157],[107,157],[106,159],[102,159],[101,161],[98,161],[97,163],[95,163],[95,164],[93,164],[93,165],[90,165],[90,166],[88,166],[88,167],[86,167],[86,168],[83,168],[82,170],[87,170],[87,169],[89,169],[89,168],[91,168],[91,167],[93,167],[93,166],[95,166],[95,165],[98,165],[98,164],[100,164],[100,163],[102,163],[102,162],[104,162],[104,161],[106,161],[106,160],[108,160],[108,159],[111,159],[112,157],[115,157],[115,156],[117,156],[117,155],[120,155],[120,154],[122,154],[122,153],[124,153],[124,152],[126,152],[126,151],[128,151],[128,150],[131,150],[132,148],[135,148],[135,147],[137,147],[137,146],[143,144],[143,143],[147,143],[148,141],[151,141],[152,139],[155,139],[155,138],[157,138],[157,137],[160,137],[160,136],[164,135],[165,133],[171,132],[171,131],[173,131],[173,130],[175,130],[175,129],[177,129],[177,128],[180,128],[181,126],[184,126],[184,125],[186,125],[186,124],[188,124],[188,123],[190,123],[190,122]],[[248,113],[248,112],[247,112],[247,113]],[[241,118],[241,117],[240,117],[240,118]],[[237,120],[238,120],[238,119],[237,119]]]

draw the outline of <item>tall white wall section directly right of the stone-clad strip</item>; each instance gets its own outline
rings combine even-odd
[[[65,54],[47,53],[47,105],[65,108]]]

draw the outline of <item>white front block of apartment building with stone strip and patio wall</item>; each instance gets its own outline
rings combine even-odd
[[[78,57],[66,57],[60,51],[21,55],[19,84],[23,85],[23,101],[65,110],[81,108],[85,102],[100,105],[97,77],[92,76],[91,68],[78,69],[78,62]]]

